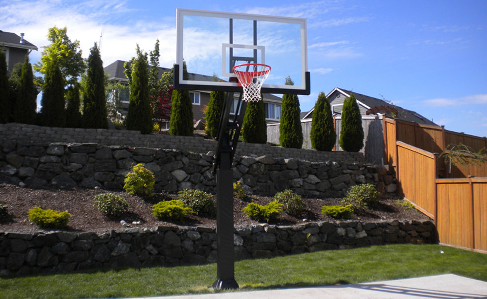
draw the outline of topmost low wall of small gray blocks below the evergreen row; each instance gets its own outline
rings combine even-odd
[[[51,128],[27,124],[0,124],[0,140],[43,143],[96,143],[105,146],[130,146],[152,149],[179,149],[198,153],[215,151],[216,141],[203,137],[171,136],[162,134],[142,135],[139,131]],[[347,151],[317,151],[287,149],[268,144],[239,143],[237,155],[261,156],[271,154],[279,158],[297,158],[307,161],[346,161],[364,163],[364,154]]]

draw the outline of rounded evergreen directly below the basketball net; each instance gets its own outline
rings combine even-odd
[[[267,125],[265,123],[264,102],[250,101],[247,103],[243,116],[243,141],[265,144],[267,142]]]

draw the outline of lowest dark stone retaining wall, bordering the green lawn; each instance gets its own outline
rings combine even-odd
[[[430,221],[261,224],[236,227],[235,257],[278,255],[394,243],[432,243]],[[103,233],[0,232],[0,277],[216,262],[216,232],[207,227],[131,227]]]

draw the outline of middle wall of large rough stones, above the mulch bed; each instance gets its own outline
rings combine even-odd
[[[213,154],[92,143],[0,141],[0,181],[22,186],[56,184],[117,190],[122,189],[132,166],[143,163],[155,175],[156,190],[216,192]],[[268,154],[236,156],[233,166],[234,179],[242,182],[247,194],[273,196],[276,192],[292,189],[308,197],[337,197],[359,183],[376,184],[380,191],[396,191],[395,179],[386,168],[357,162],[309,162]]]

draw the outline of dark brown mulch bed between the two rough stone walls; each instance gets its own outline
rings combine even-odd
[[[130,213],[119,218],[107,218],[93,207],[93,198],[97,194],[112,192],[125,198],[130,204]],[[177,199],[177,194],[155,193],[151,198],[132,196],[123,191],[107,191],[103,189],[87,188],[27,188],[11,184],[0,184],[0,200],[8,206],[7,214],[0,215],[0,231],[34,232],[39,230],[27,218],[28,210],[38,206],[43,209],[68,211],[72,214],[68,229],[79,231],[105,231],[122,228],[121,220],[128,223],[140,221],[140,227],[156,227],[157,225],[197,225],[216,227],[215,217],[189,216],[183,223],[166,223],[158,221],[152,215],[152,206],[159,201]],[[216,199],[216,197],[215,197]],[[257,223],[250,220],[242,209],[249,203],[267,204],[271,197],[249,196],[244,200],[234,199],[235,224]],[[276,224],[298,224],[310,221],[332,221],[321,213],[322,206],[338,205],[339,198],[304,199],[307,204],[306,212],[298,218],[282,213]],[[428,218],[423,214],[406,209],[398,204],[397,198],[381,199],[379,204],[353,215],[353,219],[364,222],[377,222],[381,220],[418,220]],[[131,224],[131,226],[135,226]]]

